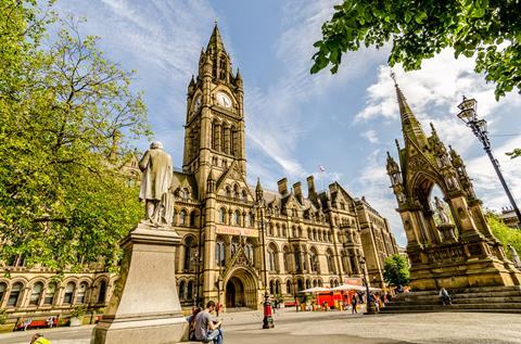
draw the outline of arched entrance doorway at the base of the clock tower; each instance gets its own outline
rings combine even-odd
[[[250,270],[244,267],[233,269],[225,285],[226,308],[257,308],[258,281]]]

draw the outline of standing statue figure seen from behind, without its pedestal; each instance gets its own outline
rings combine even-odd
[[[145,201],[145,220],[158,226],[165,206],[173,206],[166,202],[173,174],[171,157],[163,151],[161,142],[150,144],[150,150],[139,162],[139,169],[143,173],[139,199]]]

